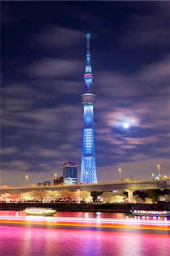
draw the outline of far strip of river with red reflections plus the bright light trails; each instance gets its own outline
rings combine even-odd
[[[122,217],[123,216],[123,217]],[[47,226],[48,228],[97,228],[97,229],[140,229],[168,232],[167,218],[147,218],[127,216],[122,213],[57,212],[54,217],[24,216],[22,211],[0,211],[0,221],[4,225]]]

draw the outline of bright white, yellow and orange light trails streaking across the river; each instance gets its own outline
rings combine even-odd
[[[144,229],[170,231],[170,220],[134,218],[90,218],[90,217],[42,217],[42,216],[0,216],[1,225],[38,225],[64,227],[92,227],[109,229]]]

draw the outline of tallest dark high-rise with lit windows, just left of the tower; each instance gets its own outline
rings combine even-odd
[[[77,163],[63,163],[63,178],[64,184],[71,185],[77,183]]]

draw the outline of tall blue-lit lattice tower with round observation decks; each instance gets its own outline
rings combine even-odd
[[[85,93],[81,95],[83,105],[83,135],[82,135],[82,158],[81,158],[81,183],[97,183],[96,160],[94,152],[94,114],[93,108],[96,95],[93,94],[92,66],[90,65],[90,34],[86,34],[87,54],[85,66]]]

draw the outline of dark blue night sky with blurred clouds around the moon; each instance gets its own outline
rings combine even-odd
[[[169,175],[169,7],[1,1],[1,185],[80,177],[86,32],[98,182]]]

